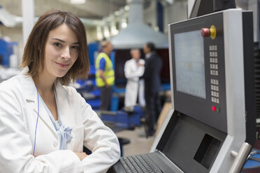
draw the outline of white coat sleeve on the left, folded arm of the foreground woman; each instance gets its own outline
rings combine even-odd
[[[31,144],[24,120],[26,115],[22,114],[26,101],[15,91],[6,90],[7,87],[0,85],[0,172],[82,172],[80,159],[73,151],[32,156],[34,144]]]

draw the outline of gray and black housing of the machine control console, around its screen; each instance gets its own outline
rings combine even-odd
[[[244,15],[249,16],[243,21]],[[173,161],[173,163],[177,163],[178,165],[180,162],[179,165],[182,165],[182,172],[239,172],[256,139],[256,128],[254,128],[256,127],[255,110],[250,112],[250,114],[246,114],[245,111],[244,75],[252,75],[251,78],[254,76],[254,72],[247,74],[244,71],[244,57],[247,56],[244,53],[248,52],[248,50],[245,50],[245,47],[252,49],[253,45],[243,45],[245,38],[252,38],[252,25],[251,29],[249,31],[244,31],[244,33],[243,28],[245,29],[245,27],[243,27],[243,25],[248,26],[247,22],[250,21],[250,19],[252,20],[251,12],[243,12],[240,9],[231,9],[168,25],[169,54],[170,57],[172,57],[170,58],[171,91],[173,93],[172,107],[174,107],[174,112],[178,112],[178,115],[187,116],[182,119],[188,119],[188,125],[191,124],[189,121],[193,121],[193,124],[195,124],[195,128],[189,128],[187,126],[189,130],[184,128],[185,123],[182,123],[183,130],[180,130],[179,127],[175,127],[178,129],[178,133],[182,134],[175,135],[179,136],[179,138],[175,139],[175,142],[180,143],[180,140],[183,140],[182,142],[184,143],[182,143],[182,145],[179,144],[179,148],[175,149],[176,151],[180,151],[180,153],[177,155],[176,153],[174,154],[174,156],[176,156],[176,161]],[[196,99],[192,96],[185,96],[185,93],[176,91],[173,34],[174,32],[178,33],[179,30],[185,31],[185,29],[187,29],[188,31],[191,31],[192,29],[198,29],[200,27],[209,28],[212,24],[214,24],[217,29],[216,38],[214,40],[211,38],[204,39],[207,98],[203,100]],[[218,59],[218,75],[210,75],[211,57],[208,45],[217,45],[216,57]],[[251,57],[245,57],[245,61],[254,61],[252,54],[250,54],[250,56]],[[251,68],[254,68],[252,63],[250,65]],[[211,79],[219,80],[219,103],[213,103],[211,100]],[[252,83],[252,85],[252,89],[254,89],[254,83]],[[184,95],[184,97],[180,95]],[[250,99],[251,100],[248,100],[248,102],[251,101],[250,103],[254,103],[254,100],[252,100],[254,97]],[[210,105],[220,107],[220,114],[217,114],[219,112],[212,112],[210,110]],[[161,151],[168,142],[169,136],[166,135],[165,131],[167,131],[166,127],[168,127],[167,124],[170,122],[170,117],[172,115],[168,114],[168,116],[169,117],[164,122],[163,128],[161,128],[159,135],[157,135],[157,138],[154,141],[151,152],[157,150]],[[247,124],[247,121],[250,121],[251,123]],[[178,121],[175,126],[178,126]],[[246,126],[252,126],[253,128],[249,131],[246,130]],[[194,130],[196,128],[198,128],[198,130]],[[212,132],[209,132],[207,128],[212,130]],[[186,133],[185,130],[187,130]],[[210,137],[208,137],[208,135]],[[203,158],[199,159],[201,160],[199,165],[196,164],[196,162],[198,163],[197,160],[196,162],[192,160],[195,159],[199,146],[203,144],[204,137],[211,138],[211,142],[213,143],[215,140],[220,142],[220,144],[217,142],[217,149],[214,151],[214,156],[210,156],[213,157],[213,159],[211,158],[212,163],[210,163],[210,167],[208,167],[208,165],[205,167]],[[183,138],[187,139],[185,140]],[[247,138],[251,139],[250,142],[246,142]],[[200,140],[201,142],[199,142]],[[210,145],[212,145],[212,143],[209,142],[209,145],[204,147],[210,149]],[[201,152],[207,151],[202,150]],[[168,151],[166,153],[168,153]],[[181,153],[183,155],[181,155]],[[209,156],[205,153],[204,157],[207,158]],[[191,160],[191,163],[187,162],[187,160]],[[205,169],[201,167],[201,164]],[[180,168],[179,165],[178,167]]]

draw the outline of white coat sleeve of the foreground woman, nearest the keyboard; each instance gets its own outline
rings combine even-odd
[[[103,124],[85,99],[81,96],[80,99],[84,125],[84,146],[92,151],[92,154],[82,160],[84,172],[106,172],[119,160],[120,144],[115,133]]]

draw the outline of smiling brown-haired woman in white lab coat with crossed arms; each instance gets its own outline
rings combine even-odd
[[[89,72],[79,18],[60,10],[43,14],[21,66],[20,75],[0,84],[0,172],[106,172],[120,158],[117,137],[67,86]]]

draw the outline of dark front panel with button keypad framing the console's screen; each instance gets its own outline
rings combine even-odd
[[[217,14],[215,26],[223,28],[222,13]],[[213,18],[215,18],[213,17]],[[220,20],[219,20],[220,19]],[[196,21],[196,22],[195,22]],[[215,40],[212,38],[203,38],[204,44],[204,64],[205,64],[205,94],[206,98],[199,98],[187,93],[183,93],[176,90],[176,76],[175,76],[175,47],[174,47],[174,34],[185,33],[188,31],[196,31],[202,28],[210,28],[212,21],[209,21],[207,17],[200,17],[196,20],[187,20],[185,22],[178,22],[169,26],[171,32],[170,39],[170,51],[171,51],[171,87],[173,92],[173,107],[174,110],[178,110],[183,114],[192,116],[192,118],[207,123],[210,126],[222,130],[227,133],[227,119],[226,119],[226,83],[225,83],[225,68],[224,68],[224,36],[223,31],[217,31],[218,35]],[[211,84],[210,79],[210,51],[208,45],[216,44],[219,52],[219,97],[221,97],[220,103],[212,103],[211,97]],[[220,112],[212,110],[212,107],[219,107]]]

